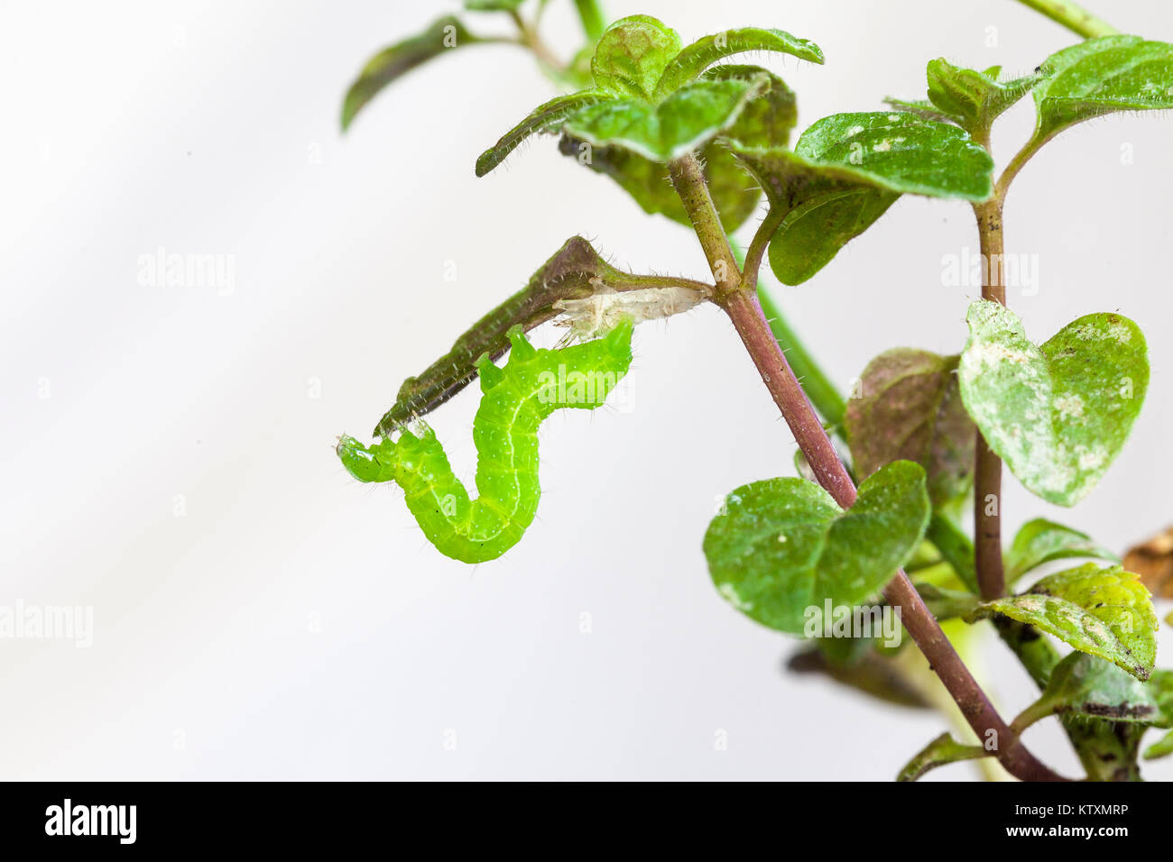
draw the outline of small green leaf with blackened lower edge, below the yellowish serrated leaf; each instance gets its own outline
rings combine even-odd
[[[1055,666],[1043,695],[1015,719],[1015,727],[1021,732],[1056,714],[1146,725],[1162,720],[1150,685],[1085,652],[1072,652]]]

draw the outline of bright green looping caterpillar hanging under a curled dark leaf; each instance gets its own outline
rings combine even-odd
[[[343,436],[338,456],[360,482],[396,482],[423,535],[463,563],[496,559],[521,539],[537,513],[537,427],[560,407],[594,409],[631,366],[630,318],[603,338],[564,349],[535,348],[520,326],[509,330],[503,368],[476,361],[481,405],[473,420],[476,500],[452,470],[435,432],[420,422],[398,440],[362,446]]]

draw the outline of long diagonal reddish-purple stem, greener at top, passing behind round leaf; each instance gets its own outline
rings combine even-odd
[[[819,484],[841,507],[849,508],[855,502],[855,483],[839,460],[830,439],[778,346],[761,313],[757,292],[740,279],[728,239],[708,196],[700,163],[689,155],[670,163],[669,172],[714,273],[717,264],[721,262],[732,264],[733,272],[737,273],[733,289],[725,280],[726,286],[721,290],[723,279],[718,279],[719,291],[714,301],[725,308],[733,321]],[[1002,720],[903,571],[897,571],[884,588],[884,597],[900,609],[901,622],[957,703],[977,738],[985,742],[992,734],[998,761],[1006,771],[1024,781],[1062,781],[1063,778],[1038,761]]]

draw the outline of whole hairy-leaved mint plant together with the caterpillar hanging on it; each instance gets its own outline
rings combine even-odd
[[[701,547],[718,593],[757,623],[802,638],[795,670],[916,701],[906,650],[876,630],[857,630],[868,615],[897,615],[975,740],[938,737],[902,780],[975,759],[996,760],[1024,780],[1064,780],[1022,739],[1051,715],[1087,779],[1138,779],[1143,737],[1173,728],[1173,671],[1154,667],[1151,593],[1113,551],[1058,523],[1029,521],[1006,547],[1001,500],[1003,467],[1051,503],[1071,507],[1091,493],[1140,413],[1145,338],[1120,314],[1090,313],[1040,339],[1006,307],[1003,211],[1015,177],[1066,129],[1173,108],[1173,45],[1118,34],[1065,0],[1024,2],[1084,41],[1022,77],[931,60],[923,99],[823,117],[796,138],[796,100],[786,83],[762,67],[727,62],[751,52],[823,62],[818,45],[780,29],[728,29],[686,45],[646,15],[605,27],[594,0],[578,0],[585,45],[562,61],[538,35],[544,0],[466,0],[469,13],[508,15],[516,36],[479,36],[446,16],[380,52],[346,96],[344,128],[388,83],[448,49],[513,43],[533,52],[563,91],[486,149],[476,175],[531,136],[555,136],[561,152],[610,177],[645,211],[689,226],[712,280],[623,272],[585,239],[570,238],[526,287],[402,384],[377,442],[341,437],[344,466],[361,481],[400,484],[441,552],[470,563],[496,558],[536,511],[542,419],[602,403],[628,371],[633,325],[713,303],[801,450],[799,476],[737,488],[712,520]],[[991,128],[1028,95],[1035,131],[999,172]],[[969,340],[956,355],[888,349],[845,399],[759,273],[768,263],[782,284],[807,281],[902,195],[971,204],[982,298],[968,310]],[[732,235],[762,202],[743,251]],[[535,351],[522,333],[549,321],[568,327],[563,345],[581,344]],[[499,367],[494,360],[507,349]],[[474,501],[422,418],[477,376]],[[1064,559],[1080,562],[1037,577]],[[1039,688],[1010,721],[954,643],[964,645],[967,626],[983,620]],[[1171,753],[1173,732],[1145,756]]]

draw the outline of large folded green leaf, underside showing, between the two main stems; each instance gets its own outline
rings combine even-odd
[[[835,114],[794,151],[731,144],[786,215],[769,245],[784,284],[800,284],[867,230],[900,195],[984,201],[994,163],[955,125],[915,114]]]

